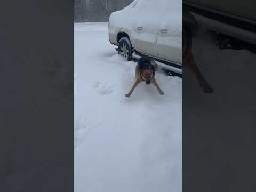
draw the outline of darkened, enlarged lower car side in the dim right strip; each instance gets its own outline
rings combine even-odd
[[[256,44],[256,1],[182,0],[182,8],[209,29]]]

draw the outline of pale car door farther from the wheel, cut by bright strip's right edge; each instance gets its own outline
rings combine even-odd
[[[174,9],[170,4],[170,9],[163,9],[161,22],[158,28],[158,38],[156,43],[157,56],[159,59],[164,59],[181,65],[182,63],[182,10],[177,5]]]

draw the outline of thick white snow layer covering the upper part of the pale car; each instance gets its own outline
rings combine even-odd
[[[133,7],[134,2],[124,10],[111,13],[111,25],[123,26],[125,21],[127,28],[141,25],[153,31],[167,25],[172,33],[178,29],[181,34],[182,6],[180,0],[138,0],[135,7]],[[114,15],[118,15],[118,17],[114,18]],[[127,18],[127,15],[129,15],[129,18]]]

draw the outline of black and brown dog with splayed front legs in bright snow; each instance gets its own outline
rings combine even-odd
[[[156,86],[158,93],[163,95],[164,92],[161,90],[161,88],[156,82],[156,78],[155,78],[156,67],[157,67],[157,63],[153,59],[150,59],[147,57],[141,57],[138,60],[136,65],[136,70],[135,70],[136,81],[132,86],[132,89],[129,91],[129,93],[125,95],[125,97],[130,98],[135,87],[137,87],[141,82],[146,82],[147,85],[152,83],[153,85]]]

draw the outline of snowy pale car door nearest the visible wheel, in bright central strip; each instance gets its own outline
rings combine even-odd
[[[153,57],[157,57],[156,42],[159,18],[154,10],[154,5],[157,5],[158,1],[139,0],[133,11],[137,18],[133,29],[135,50]]]

